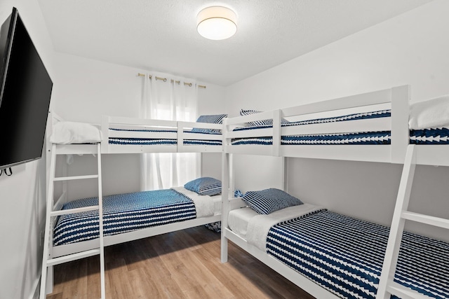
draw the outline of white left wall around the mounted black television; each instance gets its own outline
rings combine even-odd
[[[0,1],[0,22],[18,8],[34,46],[56,84],[53,44],[36,0]],[[7,145],[3,145],[7,146]],[[0,298],[32,298],[41,275],[41,232],[45,219],[45,155],[0,177]]]

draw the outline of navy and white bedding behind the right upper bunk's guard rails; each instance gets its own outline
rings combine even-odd
[[[293,125],[311,125],[316,123],[337,123],[341,121],[361,120],[367,118],[385,118],[390,117],[390,110],[373,111],[366,113],[354,113],[347,116],[338,116],[333,118],[317,118],[314,120],[301,120],[297,122],[283,123],[281,127],[290,127]],[[258,125],[253,127],[239,127],[235,131],[254,130],[272,127],[272,125]],[[232,139],[232,145],[241,144],[262,144],[272,145],[272,137],[254,137]],[[282,136],[281,145],[306,145],[306,144],[391,144],[391,132],[358,132],[348,134],[315,134],[315,135],[293,135]]]

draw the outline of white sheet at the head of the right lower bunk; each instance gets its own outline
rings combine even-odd
[[[300,204],[299,206],[288,207],[279,211],[274,211],[268,215],[253,214],[250,211],[243,211],[250,208],[242,208],[234,213],[229,213],[228,225],[229,228],[236,228],[236,234],[246,239],[248,244],[256,246],[258,249],[265,251],[265,245],[267,244],[267,235],[269,229],[282,221],[287,221],[293,218],[297,218],[313,211],[319,211],[322,207],[314,204]],[[251,210],[252,211],[252,210]],[[232,212],[232,211],[231,211]],[[231,216],[232,215],[232,216]],[[236,219],[238,219],[236,221]],[[246,233],[244,228],[244,222],[248,221]],[[232,224],[231,224],[232,223]],[[234,231],[234,230],[233,230]]]

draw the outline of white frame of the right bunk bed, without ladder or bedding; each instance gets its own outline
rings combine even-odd
[[[362,95],[342,97],[331,99],[324,102],[305,104],[288,109],[277,109],[263,113],[256,113],[250,116],[241,116],[236,118],[224,119],[223,146],[222,154],[222,239],[221,239],[221,260],[227,262],[227,243],[228,240],[240,246],[257,259],[261,260],[273,270],[279,272],[284,277],[292,281],[300,288],[304,289],[316,298],[337,298],[318,284],[304,277],[302,274],[292,270],[290,267],[279,262],[266,252],[260,251],[255,246],[246,242],[245,239],[236,235],[229,229],[227,215],[232,209],[238,209],[246,206],[239,198],[232,198],[234,191],[234,174],[232,170],[232,155],[250,154],[250,155],[273,155],[280,157],[299,157],[299,158],[319,158],[333,160],[354,160],[370,162],[390,162],[403,163],[406,150],[409,143],[408,130],[408,104],[410,99],[410,88],[408,85],[369,92]],[[361,106],[370,106],[377,104],[387,104],[391,106],[391,118],[374,118],[367,120],[351,120],[341,123],[320,123],[314,125],[301,125],[292,127],[281,127],[281,118],[292,116],[304,116],[309,113],[321,113],[329,111],[339,111],[342,109],[357,108]],[[340,113],[344,115],[347,113]],[[264,120],[273,118],[273,127],[259,130],[243,130],[232,132],[232,127],[243,125],[248,121]],[[313,118],[313,117],[312,117]],[[390,145],[281,145],[281,136],[293,134],[326,134],[339,132],[368,132],[368,131],[391,131]],[[231,145],[232,138],[244,137],[273,137],[273,145]],[[432,150],[434,146],[427,146]],[[435,148],[443,147],[436,146]],[[447,151],[447,149],[446,149]],[[424,154],[424,160],[427,164],[433,164],[432,157],[428,153]],[[285,159],[283,165],[285,165]],[[285,169],[285,167],[284,167]],[[285,176],[285,171],[283,172]],[[285,178],[282,178],[283,189],[286,190]]]

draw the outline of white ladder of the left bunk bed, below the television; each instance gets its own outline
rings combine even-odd
[[[51,162],[50,162],[50,178],[48,186],[48,197],[47,197],[47,208],[46,208],[46,224],[45,224],[45,235],[44,235],[44,246],[43,246],[43,258],[42,258],[42,273],[41,273],[41,290],[40,299],[46,298],[46,277],[47,272],[50,270],[49,267],[53,265],[58,265],[61,263],[67,263],[72,260],[78,260],[80,258],[86,258],[88,256],[100,255],[100,285],[101,285],[101,298],[105,298],[105,251],[103,242],[103,207],[102,207],[102,179],[101,179],[101,144],[97,144],[97,160],[98,160],[98,174],[85,175],[85,176],[65,176],[65,177],[55,177],[55,167],[56,167],[56,157],[58,153],[57,146],[52,145],[51,149]],[[91,207],[83,207],[77,209],[65,209],[60,211],[53,211],[54,200],[54,186],[55,181],[71,181],[77,179],[98,179],[98,205]],[[74,214],[80,213],[82,211],[94,211],[98,210],[99,215],[99,241],[100,245],[98,249],[91,249],[87,251],[81,251],[78,253],[72,253],[67,256],[60,256],[58,258],[51,257],[51,251],[49,247],[50,242],[53,242],[53,221],[52,218],[64,214]],[[50,276],[50,275],[48,275]]]

